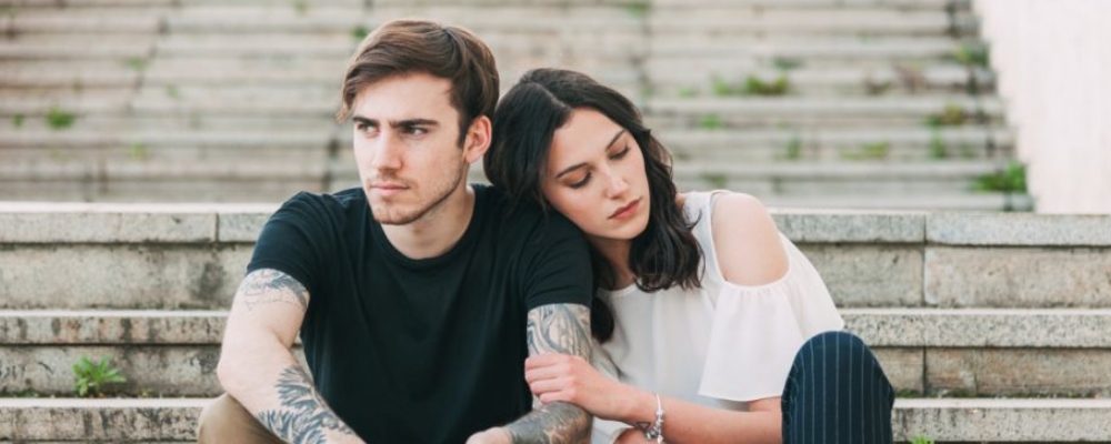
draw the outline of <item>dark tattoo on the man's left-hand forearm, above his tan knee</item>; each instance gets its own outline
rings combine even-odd
[[[354,436],[336,416],[300,366],[289,366],[278,376],[279,406],[259,412],[254,418],[278,437],[293,444],[323,444],[327,432]]]

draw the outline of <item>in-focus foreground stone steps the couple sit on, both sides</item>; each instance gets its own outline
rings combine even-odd
[[[188,442],[272,205],[0,204],[0,443]],[[779,211],[899,440],[1111,441],[1111,218]],[[73,398],[71,366],[128,381]]]

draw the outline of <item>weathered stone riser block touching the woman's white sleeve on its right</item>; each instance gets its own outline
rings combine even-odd
[[[921,306],[922,252],[912,245],[800,244],[839,307]]]

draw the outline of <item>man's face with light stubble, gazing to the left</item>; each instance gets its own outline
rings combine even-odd
[[[447,79],[410,73],[356,97],[354,158],[378,222],[412,223],[464,195],[469,163],[450,91]]]

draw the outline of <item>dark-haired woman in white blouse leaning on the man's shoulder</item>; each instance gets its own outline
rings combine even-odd
[[[532,392],[592,413],[594,443],[890,443],[891,386],[813,266],[758,200],[680,194],[670,164],[584,74],[530,71],[498,105],[488,178],[583,230],[598,289],[593,366],[531,357]]]

